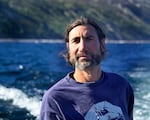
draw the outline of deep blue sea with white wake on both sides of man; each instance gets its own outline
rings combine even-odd
[[[44,92],[73,69],[60,55],[64,43],[0,42],[0,120],[38,120]],[[134,89],[134,119],[150,119],[150,44],[108,43],[104,71]]]

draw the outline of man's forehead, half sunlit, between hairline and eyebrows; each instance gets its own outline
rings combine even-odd
[[[95,36],[97,35],[97,32],[95,28],[92,25],[79,25],[74,27],[70,32],[69,32],[69,37],[71,36],[86,36],[86,35],[92,35]]]

